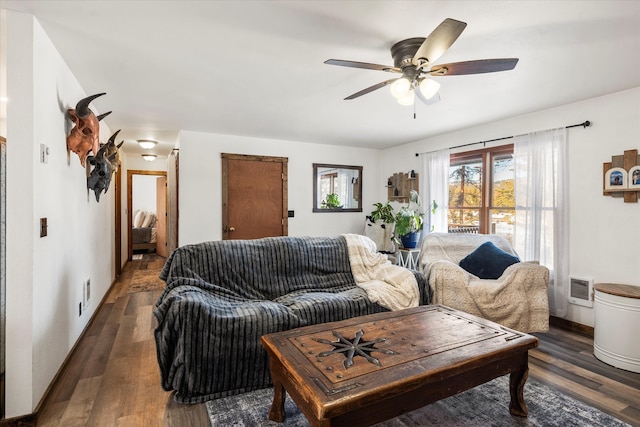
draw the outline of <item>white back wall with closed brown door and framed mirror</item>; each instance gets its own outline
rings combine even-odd
[[[179,244],[222,238],[221,153],[289,159],[290,236],[362,233],[364,217],[378,201],[380,152],[372,149],[180,132]],[[313,163],[363,166],[363,212],[313,213]]]

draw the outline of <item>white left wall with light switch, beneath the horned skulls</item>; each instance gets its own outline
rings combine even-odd
[[[32,413],[113,280],[113,191],[97,203],[65,113],[87,93],[38,22],[7,11],[6,416]],[[101,126],[102,140],[110,132]],[[40,163],[46,144],[48,163]],[[48,218],[40,238],[39,219]],[[91,299],[82,316],[83,283]]]

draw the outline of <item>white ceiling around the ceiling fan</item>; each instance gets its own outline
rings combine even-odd
[[[384,148],[640,86],[640,1],[10,1],[35,15],[127,141],[178,130]],[[445,18],[468,26],[437,63],[518,57],[440,77],[442,100],[398,105],[390,47]],[[437,64],[436,63],[436,64]],[[119,138],[120,139],[120,138]]]

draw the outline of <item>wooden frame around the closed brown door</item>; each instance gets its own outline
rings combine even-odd
[[[222,240],[229,238],[229,170],[228,160],[282,163],[282,235],[289,235],[289,158],[249,154],[220,153],[222,160]]]

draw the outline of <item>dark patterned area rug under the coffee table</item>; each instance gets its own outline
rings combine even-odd
[[[380,424],[379,427],[447,426],[591,426],[618,427],[628,424],[578,400],[529,379],[525,385],[529,417],[509,414],[508,376],[497,378],[474,389],[416,409]],[[286,418],[282,424],[267,416],[273,389],[212,400],[206,403],[214,427],[308,427],[309,422],[287,396]]]

